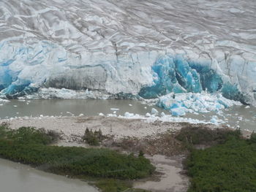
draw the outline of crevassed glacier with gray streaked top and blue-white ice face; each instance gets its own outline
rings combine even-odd
[[[1,0],[0,91],[220,92],[255,104],[255,0]]]

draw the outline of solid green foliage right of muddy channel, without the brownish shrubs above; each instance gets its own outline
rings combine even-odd
[[[185,163],[189,192],[256,191],[256,142],[235,135],[206,150],[192,150]]]

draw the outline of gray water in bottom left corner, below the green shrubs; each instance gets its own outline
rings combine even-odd
[[[97,189],[80,180],[41,172],[30,166],[0,158],[0,191],[97,192]]]

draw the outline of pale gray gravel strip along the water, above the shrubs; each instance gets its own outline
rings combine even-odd
[[[20,128],[21,126],[34,126],[36,128],[45,128],[63,133],[67,137],[78,136],[84,134],[86,128],[101,130],[104,135],[112,135],[115,139],[124,137],[135,137],[141,139],[143,137],[154,136],[164,133],[167,130],[176,131],[182,126],[181,123],[170,122],[146,122],[140,119],[124,119],[113,117],[67,117],[67,118],[12,118],[0,120],[0,123],[9,123],[10,128]]]

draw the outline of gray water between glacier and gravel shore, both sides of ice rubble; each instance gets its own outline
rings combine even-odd
[[[133,100],[97,100],[97,99],[39,99],[18,101],[11,100],[10,102],[0,105],[0,118],[15,118],[39,115],[54,115],[54,116],[71,116],[71,115],[99,115],[103,114],[124,115],[125,112],[137,113],[146,115],[151,112],[153,106],[142,104],[140,101]],[[166,110],[159,107],[154,107],[160,112],[170,114]],[[222,115],[216,112],[187,114],[184,118],[193,118],[197,120],[210,121],[213,115],[217,115],[220,120],[225,121],[225,125],[233,128],[240,127],[256,131],[256,108],[246,106],[234,106],[223,111]]]

